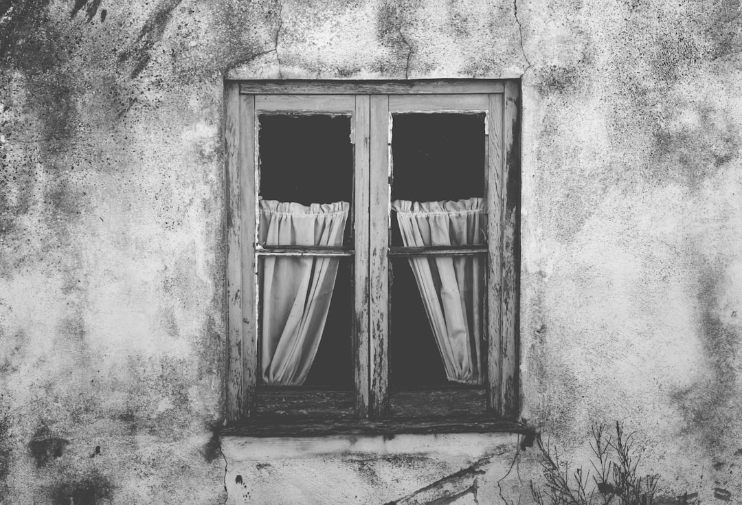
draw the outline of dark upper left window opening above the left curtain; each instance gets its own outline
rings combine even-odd
[[[349,116],[263,114],[258,121],[260,199],[305,206],[352,202]],[[352,243],[350,221],[343,242],[332,245]]]

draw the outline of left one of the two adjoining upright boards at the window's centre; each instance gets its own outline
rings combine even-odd
[[[355,380],[355,415],[367,417],[370,404],[370,323],[369,323],[369,150],[370,96],[355,97],[353,144],[355,145],[354,230],[355,268],[353,317],[353,369]]]

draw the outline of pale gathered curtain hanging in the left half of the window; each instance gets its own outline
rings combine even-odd
[[[343,245],[348,202],[309,206],[260,200],[261,245]],[[264,257],[261,364],[266,384],[301,386],[315,360],[337,257]]]

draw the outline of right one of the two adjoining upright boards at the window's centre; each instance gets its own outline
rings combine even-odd
[[[373,417],[389,414],[389,96],[370,99],[370,382]]]

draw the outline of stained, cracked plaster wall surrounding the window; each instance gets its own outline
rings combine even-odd
[[[522,76],[522,417],[742,503],[740,13],[0,1],[0,504],[528,502],[514,436],[220,445],[226,76]]]

